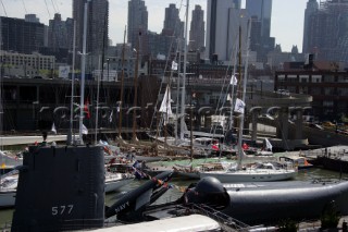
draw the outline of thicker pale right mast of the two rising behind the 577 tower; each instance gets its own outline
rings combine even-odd
[[[84,98],[85,98],[85,73],[86,73],[86,44],[87,44],[87,11],[88,2],[85,3],[85,14],[84,14],[84,39],[83,39],[83,53],[82,56],[82,68],[80,68],[80,101],[79,101],[79,142],[84,144],[83,139],[83,127],[84,127]]]

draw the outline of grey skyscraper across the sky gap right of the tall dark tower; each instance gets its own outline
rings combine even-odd
[[[128,1],[128,33],[127,41],[132,44],[132,48],[137,48],[139,33],[148,32],[148,10],[142,0]],[[141,41],[144,44],[144,40]]]

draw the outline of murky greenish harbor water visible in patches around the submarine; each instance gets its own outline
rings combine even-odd
[[[297,181],[308,181],[308,180],[318,180],[318,179],[346,179],[348,180],[347,173],[338,173],[334,171],[327,171],[319,168],[311,168],[307,170],[300,170],[298,172],[298,175],[296,178]],[[141,183],[146,182],[146,180],[138,181],[134,180],[132,183],[129,183],[126,186],[123,186],[119,192],[107,194],[105,196],[105,204],[108,206],[112,205],[117,200],[117,198],[137,186],[139,186]],[[171,190],[169,190],[160,199],[158,199],[158,203],[166,203],[177,199],[183,195],[181,190],[187,187],[190,183],[197,182],[197,180],[179,180],[179,179],[173,179],[170,184],[172,184]],[[12,221],[12,215],[14,209],[0,209],[0,230],[5,227],[5,224],[11,224]]]

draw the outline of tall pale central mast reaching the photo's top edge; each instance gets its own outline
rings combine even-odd
[[[185,124],[185,85],[186,85],[186,63],[187,63],[187,29],[188,29],[188,8],[189,0],[186,0],[186,21],[185,21],[185,45],[184,45],[184,76],[182,89],[182,117],[181,117],[181,139],[184,139],[184,124]]]

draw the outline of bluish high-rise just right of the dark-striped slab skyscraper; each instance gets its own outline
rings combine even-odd
[[[272,0],[246,0],[246,10],[252,19],[250,49],[257,51],[259,62],[266,62],[266,54],[275,46],[270,36]]]

